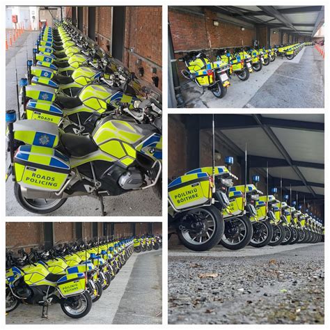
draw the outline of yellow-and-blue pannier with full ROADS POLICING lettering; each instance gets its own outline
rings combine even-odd
[[[14,164],[16,181],[31,189],[59,191],[70,173],[68,157],[47,147],[20,146]]]

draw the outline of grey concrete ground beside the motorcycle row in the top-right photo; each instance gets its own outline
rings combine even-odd
[[[227,95],[217,99],[189,82],[182,87],[185,107],[324,108],[324,58],[314,47],[305,47],[292,61],[277,57],[247,81],[233,75],[230,84]]]

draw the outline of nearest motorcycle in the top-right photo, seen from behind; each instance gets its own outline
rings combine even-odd
[[[202,87],[203,93],[207,88],[219,99],[226,95],[230,86],[228,62],[211,62],[203,52],[188,52],[178,58],[178,61],[184,62],[187,68],[181,71],[182,76]]]

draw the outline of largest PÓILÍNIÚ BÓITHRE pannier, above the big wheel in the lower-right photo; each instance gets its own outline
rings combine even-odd
[[[168,200],[176,210],[210,204],[210,176],[205,172],[182,175],[168,184]]]

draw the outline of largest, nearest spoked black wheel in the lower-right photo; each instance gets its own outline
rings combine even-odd
[[[182,244],[193,251],[207,251],[216,246],[223,236],[224,224],[221,212],[213,205],[208,207],[198,207],[182,214],[178,221],[191,221],[198,219],[200,230],[187,230],[185,228],[177,230],[178,237]]]

